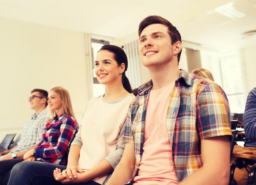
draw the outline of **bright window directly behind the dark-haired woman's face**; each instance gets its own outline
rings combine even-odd
[[[102,46],[104,45],[109,45],[109,42],[106,40],[99,40],[99,39],[94,39],[91,38],[91,47],[92,47],[92,74],[93,74],[93,85],[92,85],[92,93],[93,97],[100,96],[104,94],[105,92],[105,87],[104,85],[101,85],[94,73],[95,70],[95,57],[97,55],[97,52],[101,49]]]

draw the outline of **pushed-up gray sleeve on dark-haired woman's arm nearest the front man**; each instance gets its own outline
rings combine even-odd
[[[115,169],[115,167],[121,160],[121,157],[124,152],[124,146],[126,143],[122,140],[123,135],[124,135],[124,125],[123,125],[120,135],[117,139],[117,149],[115,150],[115,152],[112,152],[110,155],[108,155],[105,158],[110,163],[110,165],[112,166],[113,169]]]

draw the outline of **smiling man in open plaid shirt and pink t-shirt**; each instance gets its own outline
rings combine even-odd
[[[227,185],[230,111],[216,83],[178,68],[181,36],[166,19],[139,25],[139,53],[152,80],[126,119],[126,146],[107,185]]]

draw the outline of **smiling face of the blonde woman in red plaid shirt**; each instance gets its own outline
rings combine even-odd
[[[61,116],[61,114],[63,114],[62,98],[55,91],[49,91],[47,103],[49,109],[51,111],[55,111],[58,116]]]

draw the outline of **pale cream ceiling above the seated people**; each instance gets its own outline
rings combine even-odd
[[[218,13],[225,4],[242,17]],[[172,22],[185,45],[218,51],[256,46],[256,37],[242,38],[256,30],[256,0],[0,0],[0,17],[112,38],[137,33],[149,15]]]

